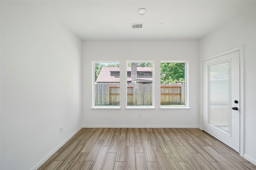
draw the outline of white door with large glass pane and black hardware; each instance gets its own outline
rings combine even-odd
[[[203,62],[203,130],[240,152],[240,52]]]

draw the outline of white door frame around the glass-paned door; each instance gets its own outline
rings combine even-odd
[[[201,95],[200,103],[200,129],[203,129],[203,62],[214,59],[216,57],[220,57],[222,55],[226,55],[235,51],[239,51],[240,55],[240,156],[244,156],[244,47],[236,47],[234,49],[230,49],[227,51],[224,51],[222,53],[218,53],[216,55],[212,55],[210,57],[207,57],[205,59],[201,60]]]

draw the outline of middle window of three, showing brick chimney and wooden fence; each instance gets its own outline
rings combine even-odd
[[[127,61],[127,108],[154,106],[152,61]]]

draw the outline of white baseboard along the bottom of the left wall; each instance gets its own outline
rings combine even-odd
[[[54,148],[50,153],[48,153],[40,162],[38,162],[31,170],[36,170],[39,168],[46,160],[48,160],[57,150],[59,150],[69,139],[71,139],[80,129],[82,126],[76,129],[71,135],[69,135],[62,143],[60,143],[56,148]]]

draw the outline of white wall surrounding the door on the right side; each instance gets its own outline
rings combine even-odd
[[[256,5],[252,8],[255,11]],[[244,46],[244,157],[256,164],[255,12],[244,14],[202,38],[199,51],[204,59],[241,45]]]

